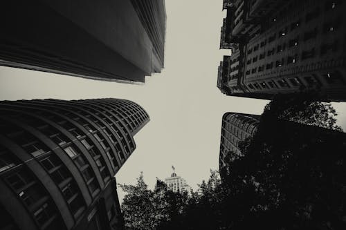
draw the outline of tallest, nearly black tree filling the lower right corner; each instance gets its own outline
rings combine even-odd
[[[290,97],[266,106],[244,156],[224,172],[231,229],[346,228],[346,135],[330,104]]]

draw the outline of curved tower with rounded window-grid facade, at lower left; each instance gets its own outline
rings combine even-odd
[[[0,102],[0,229],[122,229],[114,175],[147,122],[125,99]]]

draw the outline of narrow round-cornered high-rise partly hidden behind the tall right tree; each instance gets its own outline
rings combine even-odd
[[[244,113],[225,113],[222,117],[219,168],[235,156],[242,155],[239,142],[253,137],[260,124],[260,116]]]

